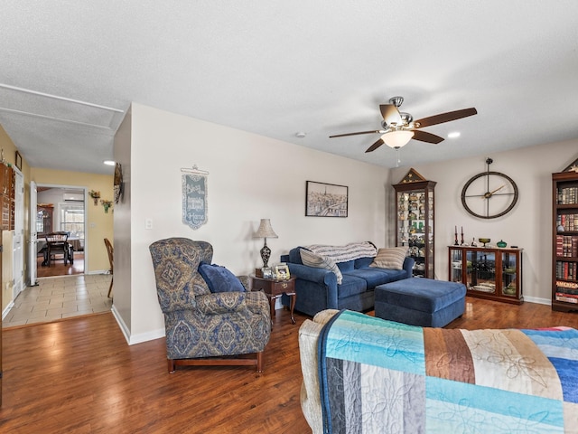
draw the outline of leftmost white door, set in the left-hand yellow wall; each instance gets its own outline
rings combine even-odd
[[[16,299],[24,288],[24,177],[14,170],[14,236],[12,241],[12,264],[14,284],[12,299]]]

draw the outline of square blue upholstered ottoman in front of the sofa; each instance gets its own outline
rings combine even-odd
[[[422,327],[443,327],[463,315],[466,287],[462,283],[432,278],[405,278],[379,285],[375,297],[378,318]]]

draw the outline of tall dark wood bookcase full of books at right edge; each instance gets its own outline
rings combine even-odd
[[[578,310],[578,160],[552,174],[552,310]]]

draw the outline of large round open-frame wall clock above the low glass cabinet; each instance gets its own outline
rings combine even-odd
[[[461,204],[467,212],[480,219],[495,219],[512,211],[517,203],[517,185],[508,175],[489,170],[474,175],[461,190]]]

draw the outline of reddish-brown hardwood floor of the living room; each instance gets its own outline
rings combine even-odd
[[[277,310],[265,373],[180,367],[164,339],[129,346],[107,313],[4,332],[0,431],[11,433],[311,432],[300,407],[298,330],[307,316]],[[467,298],[450,328],[578,328],[578,314]]]

